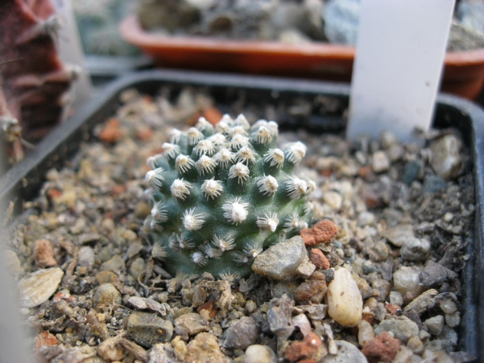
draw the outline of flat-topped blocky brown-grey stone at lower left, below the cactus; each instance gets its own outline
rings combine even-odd
[[[134,311],[127,317],[126,333],[140,346],[151,348],[156,343],[169,342],[173,324],[154,313]]]

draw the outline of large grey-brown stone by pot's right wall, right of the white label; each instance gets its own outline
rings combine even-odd
[[[454,134],[447,134],[430,142],[430,165],[438,176],[451,179],[458,176],[462,159],[462,141]]]

